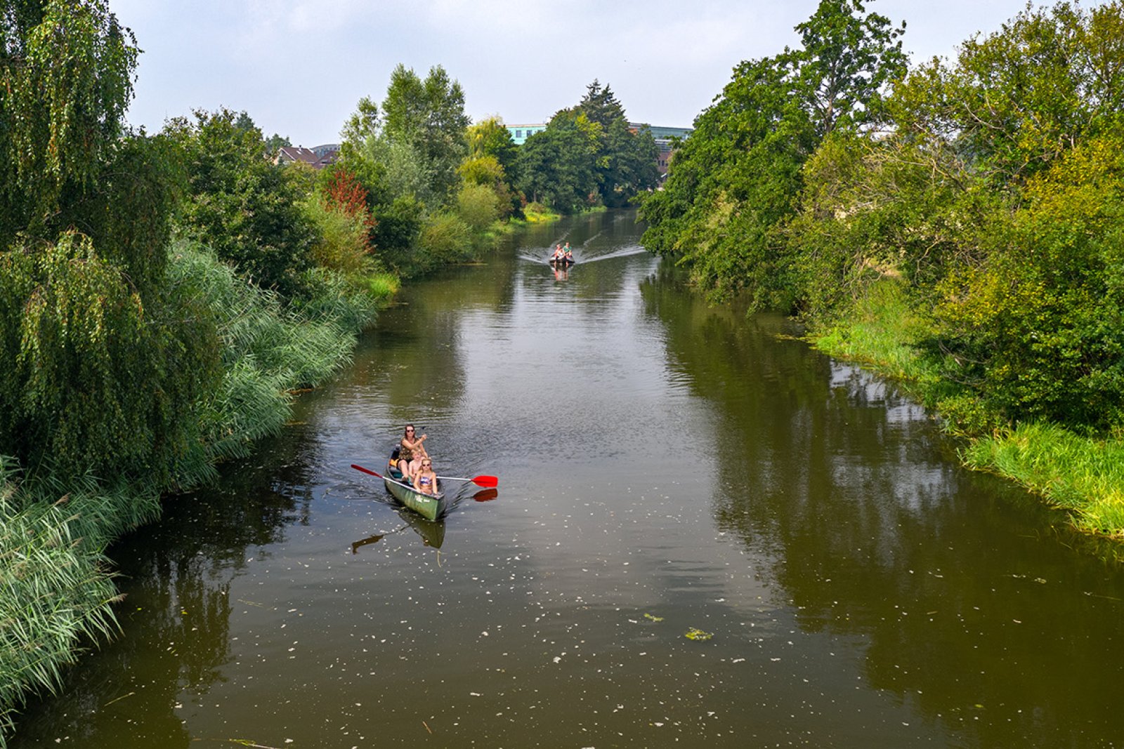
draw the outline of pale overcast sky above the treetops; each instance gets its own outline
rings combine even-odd
[[[473,120],[546,121],[609,84],[633,121],[689,127],[734,65],[798,39],[817,0],[110,0],[144,51],[133,125],[193,109],[245,110],[293,145],[338,140],[361,97],[382,101],[398,63],[442,65]],[[1041,4],[1041,3],[1035,3]],[[1099,4],[1087,0],[1086,7]],[[870,0],[906,21],[914,62],[994,31],[1024,0]]]

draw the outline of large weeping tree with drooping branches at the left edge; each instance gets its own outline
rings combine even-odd
[[[169,481],[217,377],[165,275],[176,161],[121,122],[136,57],[103,1],[0,12],[0,453],[33,474]]]

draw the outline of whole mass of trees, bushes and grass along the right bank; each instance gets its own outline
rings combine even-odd
[[[1124,3],[1028,7],[913,66],[904,28],[824,0],[800,48],[737,66],[645,245],[913,381],[986,438],[970,463],[1124,533]]]

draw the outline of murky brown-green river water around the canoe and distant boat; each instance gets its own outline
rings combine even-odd
[[[10,745],[1124,746],[1104,547],[638,237],[581,217],[406,290],[281,436],[111,549],[124,636]],[[407,421],[498,492],[396,508],[350,465]]]

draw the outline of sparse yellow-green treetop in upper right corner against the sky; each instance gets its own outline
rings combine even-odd
[[[995,184],[1044,168],[1124,108],[1122,3],[1072,2],[1017,15],[1001,30],[910,73],[891,102],[915,138],[953,145]]]

